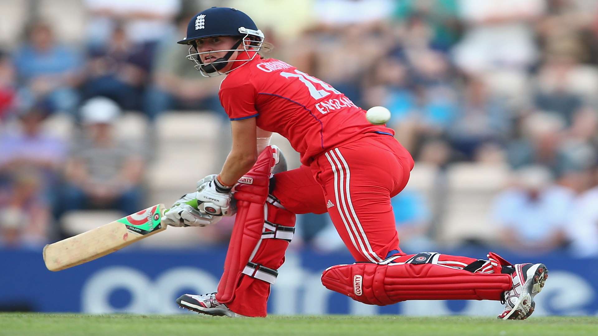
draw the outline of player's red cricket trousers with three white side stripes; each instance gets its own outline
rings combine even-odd
[[[273,191],[294,213],[328,212],[356,261],[400,252],[390,198],[409,179],[413,158],[392,136],[369,133],[276,174]]]

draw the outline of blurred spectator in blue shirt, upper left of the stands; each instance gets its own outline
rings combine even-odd
[[[81,83],[81,59],[56,41],[48,23],[33,22],[13,54],[20,94],[46,100],[52,111],[74,112]]]

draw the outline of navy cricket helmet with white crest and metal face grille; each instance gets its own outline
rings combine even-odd
[[[215,36],[238,36],[239,41],[227,50],[212,50],[200,53],[197,51],[197,39],[215,37]],[[218,72],[224,69],[228,62],[249,62],[252,60],[257,51],[260,51],[261,45],[264,42],[264,33],[254,23],[247,14],[235,8],[228,7],[212,7],[194,16],[187,26],[187,36],[179,44],[190,45],[187,59],[196,63],[194,68],[202,72],[202,75],[207,75],[213,72]],[[240,48],[243,45],[243,48]],[[218,53],[221,51],[228,51],[224,57],[219,57],[211,63],[203,63],[202,55],[208,53]],[[243,60],[228,60],[235,51],[245,51],[248,56],[248,51],[255,51],[250,56],[250,59]]]

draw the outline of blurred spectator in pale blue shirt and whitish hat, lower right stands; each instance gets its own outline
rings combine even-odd
[[[545,167],[517,170],[514,185],[498,194],[491,212],[501,245],[523,253],[563,248],[574,198],[572,190],[554,184]]]

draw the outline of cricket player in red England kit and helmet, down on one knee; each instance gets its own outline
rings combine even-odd
[[[179,306],[216,316],[266,316],[295,214],[328,212],[356,261],[325,270],[328,289],[380,306],[500,300],[500,319],[532,314],[548,276],[544,264],[511,264],[492,252],[475,259],[399,249],[390,198],[407,184],[411,155],[392,129],[368,123],[365,111],[331,85],[261,56],[264,34],[249,16],[209,8],[191,19],[178,43],[188,45],[187,58],[202,75],[224,75],[219,98],[233,146],[221,172],[176,201],[163,223],[205,226],[236,213],[218,291],[182,295]],[[301,167],[280,171],[285,164],[269,146],[271,132],[300,152]]]

